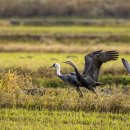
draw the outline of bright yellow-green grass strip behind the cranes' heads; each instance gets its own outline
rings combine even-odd
[[[86,53],[87,54],[87,53]],[[59,62],[62,68],[72,68],[62,62],[73,60],[77,67],[82,70],[84,67],[84,54],[79,53],[0,53],[0,68],[27,68],[37,70],[40,67],[49,67],[53,63]],[[121,58],[125,57],[130,60],[130,55],[120,55],[117,61],[111,61],[104,64],[104,69],[123,68]],[[34,64],[35,63],[35,64]],[[47,69],[50,70],[49,68]]]

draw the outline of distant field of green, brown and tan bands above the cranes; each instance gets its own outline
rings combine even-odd
[[[129,42],[127,26],[1,26],[0,29],[1,52],[88,53],[112,49],[128,54]]]

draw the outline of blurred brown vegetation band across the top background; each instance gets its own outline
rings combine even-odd
[[[130,0],[0,0],[0,17],[129,18]]]

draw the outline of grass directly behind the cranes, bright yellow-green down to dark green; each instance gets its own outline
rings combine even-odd
[[[0,53],[0,72],[17,71],[18,74],[30,74],[33,81],[42,87],[64,87],[62,81],[55,75],[55,69],[50,69],[54,63],[61,64],[61,73],[73,72],[73,68],[63,64],[63,61],[73,60],[80,70],[84,68],[84,55],[79,53]],[[117,61],[111,61],[104,64],[101,69],[100,81],[104,85],[108,84],[129,84],[130,79],[123,67],[121,58],[130,60],[129,55],[120,55]],[[2,74],[0,74],[2,75]],[[114,75],[114,79],[112,78]],[[62,84],[62,85],[61,85]]]

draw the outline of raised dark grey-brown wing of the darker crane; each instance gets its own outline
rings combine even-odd
[[[118,57],[119,54],[116,51],[93,52],[86,56],[83,74],[85,76],[90,75],[93,80],[97,81],[102,64],[111,60],[117,60]]]

